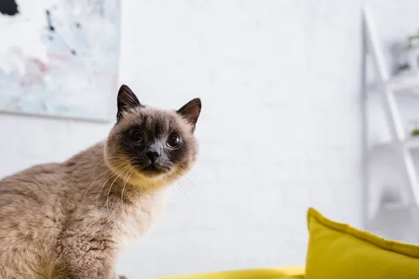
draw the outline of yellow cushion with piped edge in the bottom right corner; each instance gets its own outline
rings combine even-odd
[[[419,246],[388,241],[309,209],[305,279],[419,278]]]

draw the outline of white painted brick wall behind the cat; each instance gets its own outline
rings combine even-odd
[[[361,4],[123,1],[121,82],[161,107],[199,96],[203,112],[194,185],[183,179],[185,195],[173,187],[166,216],[122,255],[121,273],[302,264],[308,206],[362,225]],[[419,1],[372,8],[384,40],[417,27]],[[0,176],[64,160],[110,126],[1,115]]]

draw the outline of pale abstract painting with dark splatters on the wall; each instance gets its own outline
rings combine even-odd
[[[109,120],[121,0],[0,0],[0,111]]]

